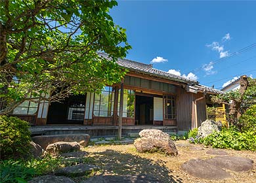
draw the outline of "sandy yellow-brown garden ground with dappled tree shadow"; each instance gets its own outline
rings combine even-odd
[[[176,144],[183,144],[186,141],[177,141]],[[245,173],[231,173],[232,178],[224,180],[203,180],[190,176],[181,170],[181,165],[185,161],[193,158],[213,158],[214,155],[205,154],[210,148],[200,145],[177,146],[179,155],[169,157],[164,154],[144,153],[136,151],[133,144],[129,145],[104,145],[89,146],[85,148],[90,153],[89,156],[95,158],[95,163],[101,167],[107,175],[154,175],[162,182],[256,182],[256,165],[253,170]],[[198,150],[200,149],[200,150]],[[241,156],[253,159],[256,162],[256,152],[224,150],[229,156]]]

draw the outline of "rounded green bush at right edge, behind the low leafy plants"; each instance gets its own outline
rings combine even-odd
[[[252,105],[239,118],[238,125],[241,125],[242,131],[256,131],[256,105]]]

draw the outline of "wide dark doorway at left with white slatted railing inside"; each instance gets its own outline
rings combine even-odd
[[[47,124],[83,124],[85,95],[71,95],[61,102],[51,103]]]

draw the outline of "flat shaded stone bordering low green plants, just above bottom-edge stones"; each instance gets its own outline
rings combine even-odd
[[[95,165],[79,164],[72,167],[64,167],[54,172],[54,175],[84,176],[98,169]]]

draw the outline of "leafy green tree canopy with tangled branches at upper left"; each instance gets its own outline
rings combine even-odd
[[[109,15],[116,5],[108,0],[0,1],[0,114],[28,99],[58,101],[119,82],[124,73],[115,61],[131,46],[125,29]]]

